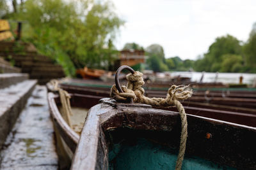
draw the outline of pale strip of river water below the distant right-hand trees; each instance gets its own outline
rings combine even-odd
[[[172,76],[188,76],[191,81],[200,81],[202,77],[202,72],[184,72],[184,71],[174,71],[171,73]],[[216,74],[217,78],[216,78]],[[203,82],[217,82],[222,83],[239,83],[239,77],[243,76],[243,83],[252,85],[256,83],[256,74],[250,73],[204,73]]]

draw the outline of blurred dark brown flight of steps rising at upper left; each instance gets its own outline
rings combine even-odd
[[[13,61],[14,65],[20,68],[21,73],[28,73],[30,78],[37,79],[41,85],[52,78],[65,77],[60,65],[56,64],[50,57],[38,54],[35,46],[29,43],[0,42],[0,56]],[[0,66],[1,72],[3,73]]]

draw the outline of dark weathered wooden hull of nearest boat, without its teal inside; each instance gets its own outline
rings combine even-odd
[[[177,112],[104,99],[88,114],[71,169],[108,169],[113,160],[109,159],[113,146],[120,143],[136,146],[138,138],[161,147],[179,148],[180,117]],[[188,115],[186,155],[211,161],[218,167],[255,169],[255,132],[253,127]],[[130,154],[132,156],[135,156],[134,152]],[[118,157],[114,159],[113,166],[116,166]],[[147,162],[141,164],[146,166]]]

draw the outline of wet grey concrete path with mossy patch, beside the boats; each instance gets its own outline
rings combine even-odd
[[[0,169],[58,169],[47,90],[36,86],[1,150]]]

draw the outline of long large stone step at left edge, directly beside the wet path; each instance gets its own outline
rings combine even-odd
[[[35,88],[36,80],[25,80],[0,89],[0,148],[12,130],[20,111]]]

